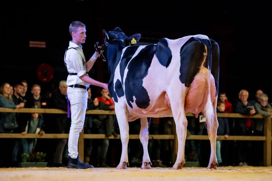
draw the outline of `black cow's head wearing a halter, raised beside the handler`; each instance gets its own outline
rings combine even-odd
[[[131,45],[131,40],[134,38],[137,42],[140,40],[141,38],[141,34],[140,33],[136,33],[130,37],[126,36],[125,33],[121,30],[121,28],[116,27],[114,28],[114,30],[109,31],[108,33],[105,30],[102,30],[102,35],[104,37],[104,55],[107,54],[107,49],[108,46],[113,45],[114,43],[117,43],[118,46],[124,48],[126,46]],[[104,59],[104,61],[107,61],[107,57],[106,56],[102,56],[102,59]]]

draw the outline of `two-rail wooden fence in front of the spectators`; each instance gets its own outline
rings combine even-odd
[[[35,108],[22,108],[22,109],[11,109],[11,108],[0,108],[0,112],[16,112],[16,113],[50,113],[50,114],[67,114],[66,111],[58,109],[35,109]],[[114,111],[105,110],[88,110],[86,114],[109,114],[114,115]],[[192,113],[187,113],[186,116],[195,116]],[[241,115],[238,113],[217,113],[218,117],[227,118],[263,118],[264,119],[264,136],[229,136],[225,138],[224,136],[217,136],[217,140],[245,140],[245,141],[264,141],[264,166],[271,166],[271,118],[264,117],[261,114],[256,114],[253,116]],[[113,136],[106,137],[104,134],[84,134],[82,131],[79,134],[78,150],[79,157],[84,158],[84,139],[120,139],[120,135],[117,138]],[[26,134],[21,135],[20,133],[0,133],[0,138],[68,138],[69,134]],[[129,135],[130,139],[139,139],[139,135]],[[170,139],[174,140],[173,154],[176,157],[177,154],[177,136],[174,135],[149,135],[149,139]],[[190,135],[186,139],[189,140],[209,140],[207,135]]]

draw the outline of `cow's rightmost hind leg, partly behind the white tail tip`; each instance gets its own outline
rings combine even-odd
[[[218,120],[216,116],[216,100],[217,96],[215,97],[215,100],[213,101],[213,111],[214,111],[214,124],[212,122],[207,121],[206,119],[206,124],[207,124],[207,129],[208,129],[208,135],[209,135],[209,140],[211,142],[211,156],[210,156],[210,161],[208,165],[208,169],[217,169],[218,163],[217,163],[217,158],[216,158],[216,133],[217,133],[217,128],[218,128]],[[211,125],[213,124],[213,125]]]

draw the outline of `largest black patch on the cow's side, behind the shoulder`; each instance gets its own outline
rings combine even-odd
[[[144,49],[141,49],[138,55],[128,64],[128,74],[125,79],[125,96],[127,103],[131,108],[131,102],[134,102],[134,96],[136,99],[135,103],[139,108],[145,109],[150,104],[147,90],[143,87],[143,79],[148,73],[148,68],[151,65],[156,48],[156,45],[146,46]],[[124,68],[122,71],[124,71]]]

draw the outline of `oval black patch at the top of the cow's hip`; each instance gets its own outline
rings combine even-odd
[[[157,50],[155,54],[160,64],[167,68],[171,62],[172,53],[165,38],[160,39],[157,43]]]

